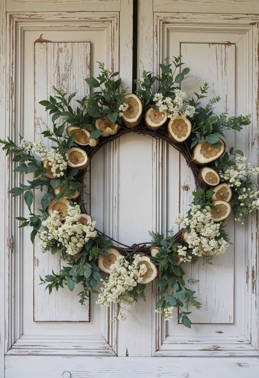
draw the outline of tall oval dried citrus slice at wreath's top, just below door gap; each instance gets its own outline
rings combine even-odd
[[[126,127],[135,127],[139,124],[140,119],[142,117],[143,106],[140,98],[133,93],[128,93],[127,95],[123,96],[123,100],[127,99],[128,101],[126,104],[128,108],[123,112],[122,121]]]

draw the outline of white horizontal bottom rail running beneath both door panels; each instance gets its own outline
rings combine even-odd
[[[73,378],[257,378],[259,359],[234,358],[113,358],[68,356],[6,356],[6,377],[56,378],[69,371]]]

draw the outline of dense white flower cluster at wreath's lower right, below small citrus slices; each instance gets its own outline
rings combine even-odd
[[[184,215],[176,215],[175,223],[182,224],[183,228],[190,228],[188,234],[189,248],[192,249],[192,254],[196,256],[214,255],[225,252],[229,243],[220,237],[220,222],[214,223],[211,219],[211,212],[209,206],[206,209],[201,209],[200,206],[193,205],[191,210],[191,218],[184,218]],[[187,247],[179,246],[178,254],[180,261],[189,261],[186,256]]]

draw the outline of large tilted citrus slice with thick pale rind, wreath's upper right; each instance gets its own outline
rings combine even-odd
[[[198,164],[207,164],[211,161],[217,160],[225,151],[225,143],[220,139],[222,145],[220,147],[214,147],[209,142],[204,140],[202,144],[196,144],[192,160],[196,161]]]

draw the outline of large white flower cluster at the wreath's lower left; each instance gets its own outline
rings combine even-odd
[[[39,245],[42,252],[49,250],[51,242],[58,241],[58,246],[62,246],[65,252],[75,255],[82,249],[88,240],[97,235],[95,231],[96,222],[89,222],[87,225],[79,223],[80,206],[69,206],[64,223],[59,220],[57,211],[53,211],[50,217],[42,223],[48,228],[48,231],[42,231],[39,239]]]

